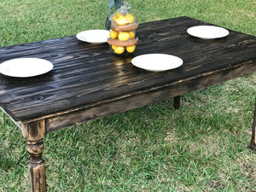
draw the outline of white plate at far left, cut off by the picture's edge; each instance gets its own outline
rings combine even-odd
[[[16,78],[28,78],[48,73],[53,68],[50,61],[38,58],[17,58],[0,64],[0,73]]]

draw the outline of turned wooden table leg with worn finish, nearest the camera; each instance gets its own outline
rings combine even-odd
[[[46,191],[46,173],[42,158],[46,135],[44,119],[21,124],[23,137],[26,139],[26,150],[30,154],[29,174],[32,192]]]

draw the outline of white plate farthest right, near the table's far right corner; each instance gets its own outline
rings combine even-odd
[[[229,31],[219,26],[192,26],[187,32],[196,38],[212,39],[224,38],[229,35]]]

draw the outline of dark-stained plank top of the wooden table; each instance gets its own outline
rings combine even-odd
[[[136,52],[128,57],[111,54],[108,44],[88,44],[75,36],[0,48],[0,63],[38,57],[54,64],[51,72],[33,78],[0,74],[0,106],[22,121],[244,64],[250,64],[249,73],[256,71],[256,37],[230,30],[228,37],[203,40],[186,32],[190,26],[202,24],[206,23],[189,17],[140,24]],[[177,55],[183,66],[152,73],[131,65],[134,56],[148,53]]]

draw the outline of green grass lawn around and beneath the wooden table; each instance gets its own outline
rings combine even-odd
[[[190,16],[256,36],[254,0],[129,1],[139,22]],[[104,28],[108,1],[1,0],[0,47]],[[49,191],[256,191],[256,74],[44,139]],[[0,113],[0,191],[30,189],[26,143]]]

